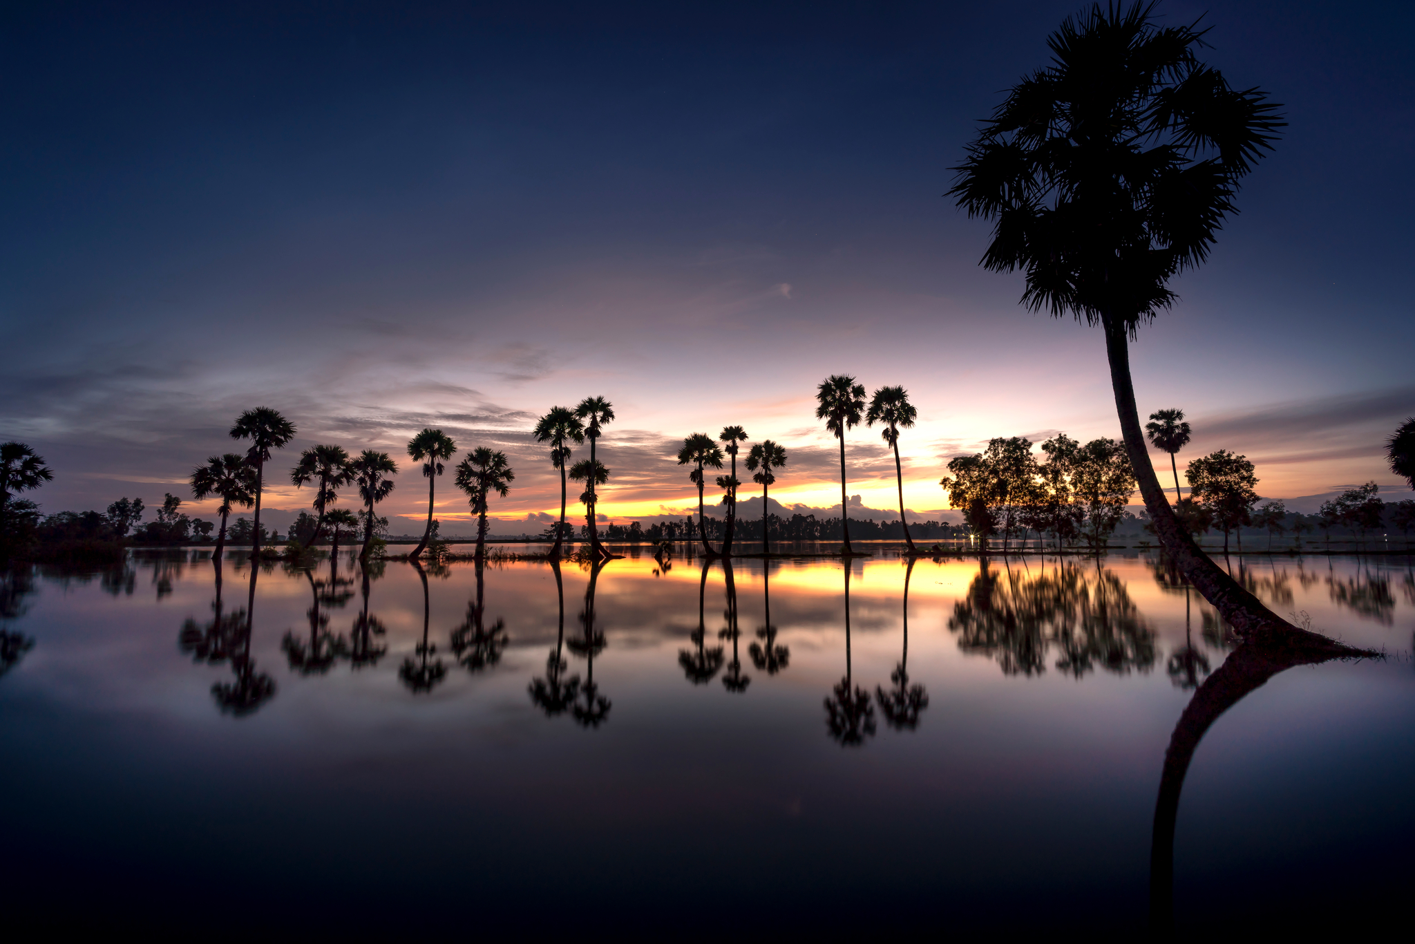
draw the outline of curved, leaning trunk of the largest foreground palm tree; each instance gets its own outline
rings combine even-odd
[[[1125,327],[1114,323],[1114,318],[1109,316],[1102,318],[1102,324],[1105,328],[1107,359],[1111,365],[1111,386],[1115,392],[1115,412],[1121,420],[1125,450],[1131,457],[1131,466],[1139,481],[1145,508],[1149,511],[1150,521],[1155,525],[1155,536],[1159,538],[1165,551],[1174,559],[1189,582],[1194,585],[1194,589],[1245,638],[1286,641],[1300,638],[1313,645],[1337,645],[1315,633],[1299,630],[1265,607],[1258,597],[1242,589],[1208,555],[1200,551],[1193,538],[1189,536],[1189,532],[1179,525],[1174,510],[1169,507],[1165,491],[1159,485],[1159,478],[1155,476],[1155,467],[1149,461],[1145,433],[1140,429],[1139,413],[1135,409],[1135,386],[1131,381],[1131,359]]]

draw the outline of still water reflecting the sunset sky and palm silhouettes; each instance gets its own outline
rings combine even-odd
[[[1412,560],[1232,570],[1387,658],[1278,672],[1203,733],[1176,921],[1407,902]],[[11,573],[0,616],[7,913],[208,936],[1125,936],[1166,747],[1232,650],[1119,555],[183,551]]]

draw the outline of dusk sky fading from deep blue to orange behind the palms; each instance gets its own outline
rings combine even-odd
[[[1077,10],[11,4],[0,439],[54,468],[48,512],[190,501],[194,466],[243,450],[235,416],[272,406],[299,434],[266,507],[308,507],[299,450],[381,449],[396,534],[427,507],[406,442],[439,426],[508,453],[507,532],[559,512],[535,419],[600,395],[606,518],[686,514],[678,446],[727,423],[787,447],[773,498],[829,510],[814,392],[850,374],[910,391],[904,500],[937,518],[948,459],[992,437],[1119,433],[1099,331],[1022,307],[944,197]],[[1132,345],[1140,412],[1184,409],[1180,473],[1230,449],[1269,498],[1407,497],[1381,443],[1415,413],[1415,7],[1157,11],[1203,14],[1206,59],[1289,127]],[[846,451],[852,502],[897,507],[879,430]],[[466,500],[437,488],[456,534]]]

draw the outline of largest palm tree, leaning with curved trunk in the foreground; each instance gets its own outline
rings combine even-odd
[[[949,195],[996,222],[982,265],[1026,272],[1023,303],[1099,324],[1116,413],[1152,526],[1189,580],[1249,638],[1327,645],[1268,610],[1186,532],[1155,476],[1129,338],[1208,255],[1242,177],[1271,150],[1276,105],[1232,89],[1194,52],[1203,31],[1153,4],[1102,7],[1050,38],[1053,64],[1013,86],[957,167]]]

